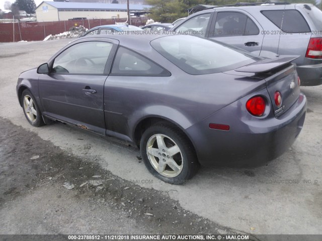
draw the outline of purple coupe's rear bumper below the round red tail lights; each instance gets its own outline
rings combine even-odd
[[[287,151],[303,127],[306,97],[302,93],[297,102],[278,118],[241,116],[238,113],[241,104],[236,101],[186,130],[188,136],[193,137],[191,140],[201,165],[264,165]],[[229,125],[230,130],[212,130],[209,123]]]

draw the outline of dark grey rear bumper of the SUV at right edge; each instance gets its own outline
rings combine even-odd
[[[296,67],[301,85],[313,86],[322,84],[322,64],[301,65]]]

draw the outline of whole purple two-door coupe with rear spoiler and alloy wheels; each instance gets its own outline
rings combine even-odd
[[[89,36],[21,73],[17,94],[31,125],[117,138],[180,184],[199,165],[263,165],[293,144],[306,111],[295,58],[185,35]]]

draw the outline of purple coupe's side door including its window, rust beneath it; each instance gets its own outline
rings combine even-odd
[[[116,46],[113,42],[83,41],[54,57],[50,73],[39,76],[43,114],[105,135],[104,82]]]

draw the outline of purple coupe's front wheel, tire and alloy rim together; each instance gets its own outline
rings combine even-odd
[[[24,110],[27,121],[34,127],[41,127],[44,125],[44,121],[41,116],[41,112],[35,102],[35,97],[30,90],[25,89],[21,95],[22,108]]]

